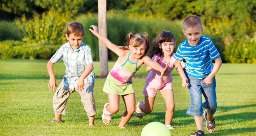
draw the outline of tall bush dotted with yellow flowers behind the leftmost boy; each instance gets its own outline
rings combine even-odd
[[[52,42],[62,44],[66,42],[66,28],[70,21],[68,12],[59,14],[52,10],[34,14],[33,19],[26,20],[25,14],[16,19],[15,24],[25,34],[23,41],[27,43]]]

